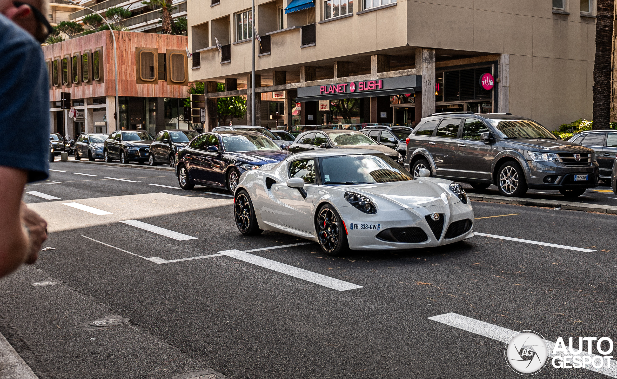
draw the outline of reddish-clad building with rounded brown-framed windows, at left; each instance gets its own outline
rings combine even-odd
[[[188,129],[186,36],[114,31],[118,58],[119,126]],[[43,46],[49,70],[51,131],[75,138],[116,129],[114,44],[109,30]],[[69,92],[77,111],[60,109]]]

